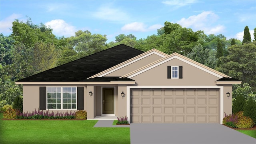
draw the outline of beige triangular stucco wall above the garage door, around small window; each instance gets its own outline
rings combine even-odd
[[[183,66],[183,78],[168,79],[167,66]],[[141,86],[216,86],[220,78],[174,58],[131,79]]]

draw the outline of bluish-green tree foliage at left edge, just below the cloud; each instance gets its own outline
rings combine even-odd
[[[6,66],[12,64],[14,39],[10,36],[0,34],[0,65]]]

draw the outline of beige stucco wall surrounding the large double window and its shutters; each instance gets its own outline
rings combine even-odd
[[[53,85],[53,84],[48,84],[48,85],[42,85],[42,84],[24,84],[23,85],[23,112],[32,112],[35,110],[39,109],[39,87],[40,86],[84,86],[84,110],[86,110],[86,86],[85,85]],[[44,110],[46,111],[46,110]],[[49,112],[66,112],[67,110],[49,110]],[[71,110],[72,112],[75,112],[76,110]],[[70,112],[70,110],[68,110]]]

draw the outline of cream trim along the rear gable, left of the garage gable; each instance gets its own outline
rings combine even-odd
[[[144,52],[143,54],[140,54],[138,56],[135,56],[134,58],[131,58],[129,60],[126,60],[125,62],[122,62],[121,64],[118,64],[116,66],[113,66],[112,68],[109,68],[107,70],[104,70],[103,72],[100,72],[94,76],[91,76],[89,78],[95,78],[95,77],[102,77],[102,76],[106,76],[107,74],[110,74],[111,72],[114,72],[116,70],[119,70],[125,66],[128,66],[129,64],[132,64],[134,62],[137,62],[138,60],[141,60],[147,56],[150,56],[151,54],[156,54],[158,56],[161,56],[162,58],[168,56],[168,54],[164,53],[164,52],[161,52],[159,50],[156,50],[156,49],[151,49],[147,52]]]

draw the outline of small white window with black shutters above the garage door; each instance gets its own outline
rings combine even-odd
[[[182,79],[182,66],[167,66],[167,78]]]

